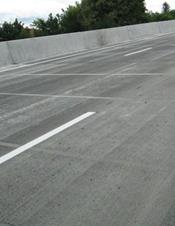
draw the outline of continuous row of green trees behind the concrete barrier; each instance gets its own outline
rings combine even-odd
[[[175,10],[167,2],[163,3],[161,13],[153,13],[146,10],[145,0],[82,0],[61,14],[35,19],[30,28],[17,19],[4,22],[0,26],[0,41],[172,19]]]

